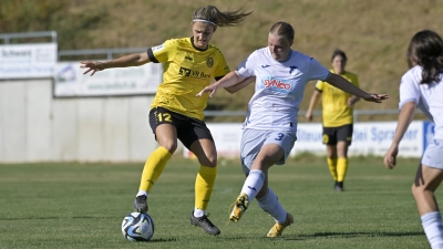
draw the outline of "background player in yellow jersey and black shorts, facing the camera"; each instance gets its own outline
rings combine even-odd
[[[347,55],[341,50],[332,53],[332,73],[344,77],[359,87],[356,74],[344,70]],[[352,142],[353,132],[353,105],[359,97],[343,92],[327,82],[319,81],[309,103],[306,117],[312,121],[312,110],[320,96],[323,123],[323,144],[327,145],[328,166],[334,179],[333,188],[343,190],[343,181],[348,170],[348,147]]]

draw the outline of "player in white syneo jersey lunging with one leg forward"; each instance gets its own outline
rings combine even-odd
[[[235,92],[246,85],[237,83],[256,76],[255,94],[249,101],[241,137],[241,163],[247,178],[229,219],[237,222],[249,203],[257,198],[258,206],[276,220],[268,237],[280,236],[293,222],[293,217],[268,188],[268,169],[275,164],[285,164],[297,139],[297,114],[306,84],[312,80],[327,81],[371,102],[388,97],[384,94],[365,93],[343,77],[330,73],[313,58],[291,50],[293,37],[295,31],[289,23],[277,22],[270,29],[268,46],[253,52],[236,71],[197,94],[209,92],[209,96],[213,96],[220,87],[230,87],[230,92]]]

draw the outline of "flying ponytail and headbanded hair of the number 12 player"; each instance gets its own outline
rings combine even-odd
[[[193,21],[207,21],[219,27],[239,25],[253,11],[246,12],[243,8],[237,10],[219,11],[217,7],[206,6],[194,10]]]

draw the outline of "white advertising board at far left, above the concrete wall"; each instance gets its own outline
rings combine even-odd
[[[0,45],[0,79],[52,77],[56,43]]]

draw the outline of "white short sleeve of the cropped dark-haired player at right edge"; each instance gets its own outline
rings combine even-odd
[[[403,107],[404,104],[409,102],[414,102],[419,104],[420,101],[420,81],[414,77],[414,74],[409,71],[405,73],[400,82],[400,103],[399,110]]]

